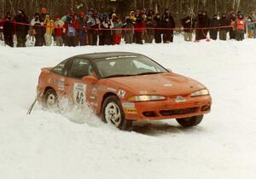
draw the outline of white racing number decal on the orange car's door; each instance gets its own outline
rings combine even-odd
[[[86,101],[86,84],[73,84],[73,101],[79,106],[84,105]]]

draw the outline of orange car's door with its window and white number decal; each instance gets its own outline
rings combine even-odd
[[[67,83],[69,94],[76,106],[84,107],[86,102],[91,102],[91,93],[93,85],[90,82],[83,81],[84,76],[90,76],[94,73],[89,60],[74,58],[73,64],[68,72]]]

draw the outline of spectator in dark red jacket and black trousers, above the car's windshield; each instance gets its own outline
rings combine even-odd
[[[137,17],[136,23],[135,23],[135,43],[143,44],[143,34],[145,31],[146,23],[143,20],[143,17],[140,15]]]

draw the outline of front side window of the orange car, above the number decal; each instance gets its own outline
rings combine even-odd
[[[73,65],[69,72],[69,77],[71,78],[83,78],[84,76],[89,76],[93,73],[90,61],[84,59],[74,59]]]

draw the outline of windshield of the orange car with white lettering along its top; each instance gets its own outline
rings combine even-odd
[[[167,72],[165,68],[143,55],[124,55],[97,59],[96,66],[102,78]]]

